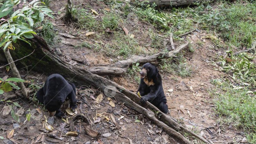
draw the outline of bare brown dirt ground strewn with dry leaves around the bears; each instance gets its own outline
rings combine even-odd
[[[100,1],[73,1],[74,5],[90,5],[97,9],[108,8],[103,2]],[[66,5],[66,1],[53,1],[51,4],[52,11],[58,11]],[[56,19],[52,21],[53,25],[58,28],[59,33],[69,33],[74,31],[71,30],[71,27],[67,27],[63,24],[63,21],[58,20],[57,15]],[[97,18],[101,19],[101,15]],[[143,29],[142,24],[144,22],[139,21],[139,26]],[[132,23],[126,26],[128,29],[132,29]],[[216,60],[216,56],[223,55],[224,50],[215,48],[212,49],[211,46],[213,43],[210,39],[201,39],[201,36],[205,36],[207,33],[203,30],[201,32],[193,32],[188,36],[188,40],[191,41],[191,45],[197,47],[194,52],[189,52],[188,49],[184,50],[185,57],[191,69],[193,71],[192,76],[188,78],[181,78],[178,75],[172,75],[170,73],[162,73],[162,84],[164,93],[168,100],[168,108],[172,117],[178,120],[178,122],[188,129],[192,129],[197,134],[202,135],[206,139],[210,139],[213,143],[225,143],[230,141],[241,141],[245,135],[240,129],[229,125],[220,125],[217,123],[218,116],[216,115],[214,105],[212,103],[212,97],[209,94],[209,90],[214,88],[210,83],[210,80],[221,78],[224,74],[223,72],[213,70],[213,65],[211,61]],[[58,39],[61,41],[58,43],[58,49],[62,52],[64,60],[70,62],[84,69],[90,69],[98,65],[107,65],[112,63],[112,59],[106,57],[102,53],[94,52],[92,49],[83,48],[83,49],[74,49],[75,45],[80,44],[83,41],[88,43],[94,43],[97,41],[97,38],[91,36],[86,38],[85,36],[80,36],[77,39],[70,39],[62,35],[58,35]],[[110,40],[111,41],[111,40]],[[196,42],[201,41],[204,44],[198,46]],[[184,40],[184,43],[186,41]],[[145,40],[142,43],[149,43],[149,40]],[[175,43],[175,47],[179,47],[180,44]],[[150,47],[149,47],[150,49]],[[83,56],[86,56],[90,62],[90,65],[81,64],[79,62],[70,60],[69,57],[75,57],[77,59],[83,59]],[[0,63],[2,65],[2,63]],[[158,67],[160,69],[160,67]],[[27,75],[25,69],[20,69],[22,76]],[[6,72],[5,69],[0,69],[0,77],[11,76],[11,71]],[[25,77],[27,80],[34,80],[34,83],[42,85],[46,80],[47,75],[33,72],[29,73],[29,77]],[[173,78],[176,77],[177,80]],[[112,76],[111,80],[118,83],[119,85],[131,90],[133,92],[137,91],[138,85],[131,83],[129,78],[125,75],[123,76]],[[32,81],[29,82],[31,84]],[[188,86],[188,87],[186,87]],[[189,87],[192,87],[190,89]],[[30,88],[31,89],[31,88]],[[31,110],[31,121],[26,122],[23,125],[21,123],[13,120],[10,114],[3,115],[3,108],[6,106],[3,102],[0,103],[0,136],[4,137],[4,140],[0,140],[0,143],[8,144],[23,144],[23,143],[42,143],[42,144],[52,144],[52,143],[69,143],[69,144],[82,144],[89,142],[91,143],[113,143],[113,144],[126,144],[126,143],[136,143],[136,144],[162,144],[162,143],[174,143],[171,141],[171,138],[161,130],[157,128],[154,123],[151,123],[147,119],[143,118],[141,114],[133,111],[131,108],[124,106],[122,103],[117,103],[114,99],[115,107],[109,105],[107,97],[101,101],[100,104],[95,104],[95,100],[99,93],[87,89],[85,87],[77,87],[77,97],[78,99],[85,99],[87,104],[79,104],[77,106],[78,114],[84,115],[89,120],[89,123],[78,120],[75,121],[74,117],[69,116],[70,124],[64,123],[64,121],[55,118],[54,124],[52,125],[54,130],[47,131],[43,128],[45,123],[44,115],[48,118],[47,111],[44,111],[37,103],[28,101],[22,96],[18,96],[14,99],[11,99],[12,102],[17,102],[21,105],[22,108],[15,107],[15,112],[20,116],[20,122],[26,120],[26,114],[29,113],[28,109]],[[171,89],[171,92],[168,90]],[[14,91],[9,93],[4,93],[0,96],[3,99],[5,96],[15,93]],[[89,96],[86,96],[89,95]],[[31,97],[34,96],[34,92],[31,93]],[[19,111],[20,110],[20,111]],[[64,110],[63,110],[64,111]],[[20,112],[20,113],[19,113]],[[98,115],[96,119],[96,114]],[[111,115],[113,119],[111,119]],[[106,118],[110,118],[110,122],[107,122]],[[94,118],[94,119],[93,119]],[[135,122],[138,119],[141,122]],[[115,123],[113,123],[115,121]],[[19,128],[14,130],[14,134],[11,138],[7,138],[8,133],[3,134],[6,130],[13,129],[21,125]],[[116,125],[116,127],[114,126]],[[92,128],[101,135],[99,137],[92,138],[85,133],[85,128]],[[65,133],[68,131],[76,131],[78,136],[66,136]],[[186,138],[193,140],[190,135],[186,135]],[[131,141],[131,142],[130,142]],[[199,140],[195,140],[194,143],[202,143]]]

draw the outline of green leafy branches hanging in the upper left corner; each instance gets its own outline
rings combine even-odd
[[[31,27],[37,22],[42,22],[44,20],[44,15],[54,18],[52,14],[50,14],[52,13],[52,10],[48,9],[46,6],[38,5],[42,2],[37,1],[38,0],[33,0],[30,3],[24,1],[24,7],[15,11],[12,9],[14,6],[21,3],[20,0],[6,0],[3,3],[0,8],[0,47],[4,46],[3,50],[7,47],[9,49],[15,49],[11,43],[16,43],[17,39],[26,41],[25,38],[33,38],[32,34],[36,33]]]

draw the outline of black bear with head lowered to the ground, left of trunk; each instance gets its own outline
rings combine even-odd
[[[54,114],[59,118],[67,117],[59,110],[66,99],[70,99],[72,111],[76,110],[76,86],[59,74],[52,74],[46,79],[44,87],[36,93],[36,98],[45,105],[50,117]]]

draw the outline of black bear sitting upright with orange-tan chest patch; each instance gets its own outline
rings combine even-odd
[[[159,70],[152,63],[145,63],[140,72],[140,86],[137,91],[140,92],[141,103],[149,101],[163,113],[168,112],[167,100],[164,95],[162,78]]]

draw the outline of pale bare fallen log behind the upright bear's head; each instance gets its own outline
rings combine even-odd
[[[127,69],[132,63],[148,63],[148,62],[157,62],[159,57],[162,58],[171,58],[174,57],[175,54],[179,53],[181,50],[188,46],[188,42],[186,44],[181,45],[174,51],[170,51],[168,53],[159,52],[154,55],[140,55],[140,56],[132,56],[127,60],[118,61],[114,64],[110,64],[106,67],[94,67],[89,71],[93,74],[97,75],[122,75],[125,74]]]

